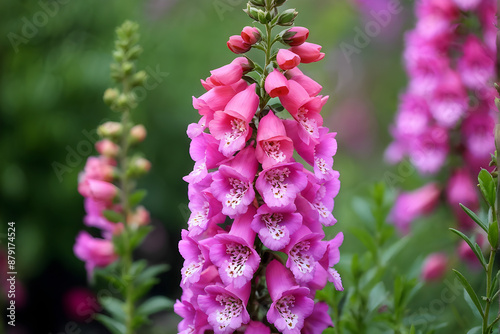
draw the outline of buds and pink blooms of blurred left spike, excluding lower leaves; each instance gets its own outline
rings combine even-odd
[[[137,230],[149,224],[149,212],[137,205],[141,193],[132,195],[128,181],[149,171],[151,164],[140,157],[128,157],[128,149],[143,141],[146,129],[129,120],[130,108],[136,104],[131,88],[140,85],[143,71],[135,72],[133,61],[140,53],[136,45],[137,25],[127,22],[117,30],[118,41],[113,53],[116,63],[112,65],[112,76],[119,82],[129,82],[123,92],[110,88],[104,93],[104,101],[111,109],[122,115],[122,122],[106,122],[97,133],[101,140],[96,142],[98,156],[87,159],[84,171],[78,178],[78,191],[85,198],[86,216],[83,221],[88,227],[100,230],[101,238],[92,237],[82,231],[76,238],[74,252],[85,261],[89,278],[95,267],[106,267],[117,260],[120,251],[114,239],[125,229]]]

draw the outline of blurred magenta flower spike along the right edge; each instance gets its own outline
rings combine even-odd
[[[475,224],[459,207],[479,208],[474,179],[495,151],[497,118],[495,0],[423,0],[417,24],[406,35],[404,62],[410,78],[391,128],[391,163],[408,156],[423,175],[445,171],[445,197],[460,226]],[[457,24],[458,23],[458,24]],[[403,230],[429,212],[440,188],[430,183],[398,200],[393,220]]]

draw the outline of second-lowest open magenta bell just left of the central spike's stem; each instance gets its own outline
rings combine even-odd
[[[219,275],[226,285],[240,288],[250,282],[257,271],[260,257],[253,248],[255,232],[250,223],[255,214],[251,207],[246,214],[238,216],[229,233],[217,234],[210,247],[210,259],[219,268]]]

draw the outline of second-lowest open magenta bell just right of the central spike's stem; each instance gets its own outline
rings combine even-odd
[[[300,283],[310,282],[314,278],[316,266],[326,251],[326,242],[322,242],[325,235],[312,233],[302,225],[291,237],[290,243],[285,248],[288,254],[286,266],[295,280]]]

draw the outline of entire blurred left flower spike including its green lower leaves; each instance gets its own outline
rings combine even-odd
[[[151,163],[139,152],[131,152],[146,138],[146,128],[134,124],[131,112],[137,107],[133,88],[142,86],[147,78],[137,71],[135,61],[142,52],[137,44],[138,25],[125,22],[117,30],[111,77],[121,86],[109,88],[104,102],[120,115],[119,122],[101,124],[97,133],[101,140],[95,145],[98,156],[89,157],[78,179],[78,191],[84,197],[88,227],[100,230],[94,237],[82,231],[76,238],[75,255],[85,262],[89,281],[98,274],[112,284],[117,296],[99,298],[109,313],[98,314],[112,333],[132,334],[148,321],[149,315],[171,308],[172,302],[144,295],[157,283],[156,275],[166,265],[147,266],[145,260],[134,261],[133,251],[152,230],[149,212],[139,205],[145,190],[136,189],[136,180],[147,173]]]

